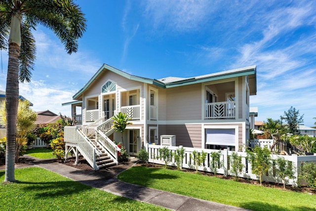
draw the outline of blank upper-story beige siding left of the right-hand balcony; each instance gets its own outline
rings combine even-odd
[[[166,90],[166,120],[200,120],[201,102],[200,84],[168,88]]]

